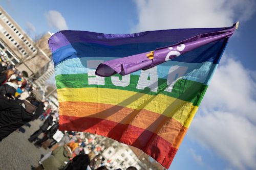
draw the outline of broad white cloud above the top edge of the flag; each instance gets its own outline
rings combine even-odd
[[[249,19],[253,0],[135,1],[138,23],[132,32],[174,28],[227,27]]]

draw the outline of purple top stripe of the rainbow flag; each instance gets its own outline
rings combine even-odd
[[[174,29],[146,31],[135,34],[102,34],[88,31],[60,31],[49,39],[50,50],[55,52],[58,48],[76,42],[90,42],[104,45],[121,45],[144,42],[180,42],[191,36],[220,31],[225,28],[205,29]]]

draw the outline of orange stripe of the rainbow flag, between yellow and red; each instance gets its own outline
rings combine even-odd
[[[79,109],[78,109],[79,108]],[[132,125],[156,133],[169,143],[179,135],[182,124],[177,120],[148,110],[135,110],[110,104],[88,102],[60,102],[59,114],[75,117],[94,117]],[[176,148],[176,147],[175,147]]]

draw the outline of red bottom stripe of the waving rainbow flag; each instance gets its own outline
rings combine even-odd
[[[169,168],[177,149],[157,134],[132,125],[92,117],[59,116],[59,129],[90,132],[132,145]]]

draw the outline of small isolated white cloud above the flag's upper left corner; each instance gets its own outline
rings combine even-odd
[[[60,12],[50,10],[45,16],[50,27],[54,27],[57,30],[68,30],[66,20]]]

